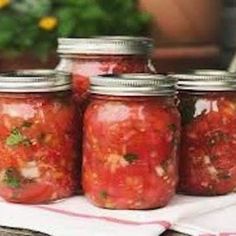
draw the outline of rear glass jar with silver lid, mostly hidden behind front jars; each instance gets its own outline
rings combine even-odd
[[[155,72],[150,61],[153,41],[144,37],[61,38],[57,70],[73,75],[75,97],[86,101],[89,77]]]

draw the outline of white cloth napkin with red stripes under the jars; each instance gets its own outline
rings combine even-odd
[[[48,205],[19,205],[1,200],[0,225],[27,228],[53,236],[124,236],[127,233],[129,236],[157,236],[168,228],[199,235],[227,232],[228,229],[220,225],[216,230],[214,225],[208,228],[201,216],[206,219],[212,215],[217,217],[218,211],[231,209],[234,205],[236,194],[220,197],[177,195],[167,207],[146,211],[99,209],[82,196]],[[224,213],[236,219],[235,210],[224,210]],[[228,219],[221,219],[221,224],[224,221],[227,223]]]

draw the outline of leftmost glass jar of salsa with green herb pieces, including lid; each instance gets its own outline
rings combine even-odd
[[[43,203],[74,194],[77,129],[65,73],[0,74],[0,196]]]

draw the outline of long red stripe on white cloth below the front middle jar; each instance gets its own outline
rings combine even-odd
[[[83,213],[75,213],[71,211],[61,210],[61,209],[55,209],[51,207],[44,207],[44,206],[35,206],[36,208],[40,208],[43,210],[56,212],[62,215],[72,216],[72,217],[79,217],[79,218],[86,218],[86,219],[96,219],[96,220],[104,220],[116,224],[123,224],[123,225],[160,225],[165,229],[169,229],[171,227],[171,224],[167,221],[146,221],[146,222],[137,222],[137,221],[130,221],[130,220],[122,220],[117,219],[113,217],[108,216],[95,216],[95,215],[87,215]]]

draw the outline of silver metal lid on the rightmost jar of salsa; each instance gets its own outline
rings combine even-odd
[[[226,71],[198,70],[188,74],[170,75],[178,80],[179,90],[235,91],[236,75]]]

